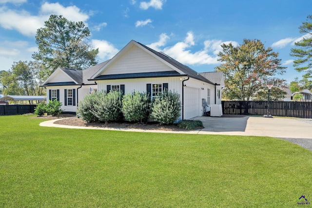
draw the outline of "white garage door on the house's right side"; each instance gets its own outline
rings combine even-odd
[[[199,89],[193,87],[184,88],[184,119],[200,115],[199,108]]]

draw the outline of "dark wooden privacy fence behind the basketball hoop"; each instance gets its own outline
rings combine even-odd
[[[312,102],[270,101],[273,116],[312,118]],[[265,115],[268,101],[222,101],[223,114]]]

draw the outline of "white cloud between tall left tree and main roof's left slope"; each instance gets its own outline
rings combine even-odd
[[[119,52],[112,43],[106,40],[93,39],[91,43],[95,48],[98,48],[98,57],[103,61],[114,57]]]

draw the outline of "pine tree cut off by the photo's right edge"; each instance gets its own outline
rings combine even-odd
[[[293,61],[293,66],[298,72],[306,72],[306,78],[312,76],[312,15],[307,17],[307,21],[299,26],[299,32],[305,34],[303,38],[295,42],[297,48],[291,49],[291,56],[297,57]],[[302,66],[305,65],[305,66]]]

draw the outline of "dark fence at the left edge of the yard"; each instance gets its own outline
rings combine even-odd
[[[0,115],[34,113],[37,105],[0,105]]]

